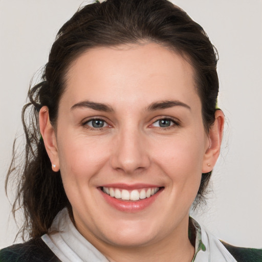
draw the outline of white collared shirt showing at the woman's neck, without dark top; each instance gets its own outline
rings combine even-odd
[[[191,217],[189,223],[195,234],[195,253],[192,262],[237,262],[224,245]],[[68,210],[60,211],[52,226],[54,234],[41,238],[62,262],[108,262],[109,260],[89,243],[75,228]]]

